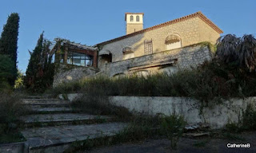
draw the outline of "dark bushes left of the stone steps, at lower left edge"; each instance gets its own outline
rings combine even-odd
[[[26,115],[28,109],[21,104],[18,95],[0,92],[0,143],[24,141],[18,131],[18,117]]]

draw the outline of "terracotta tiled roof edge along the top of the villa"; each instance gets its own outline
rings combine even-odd
[[[134,32],[134,33],[126,34],[126,35],[123,35],[121,37],[116,37],[114,39],[110,39],[109,41],[103,41],[103,42],[98,43],[96,45],[104,45],[104,44],[108,44],[110,42],[119,41],[119,40],[122,40],[126,37],[132,37],[132,36],[140,34],[140,33],[146,33],[146,32],[151,31],[153,29],[158,29],[158,28],[161,28],[163,26],[169,26],[169,25],[172,25],[174,23],[183,22],[183,21],[186,21],[190,18],[196,18],[196,17],[201,18],[203,22],[206,22],[206,24],[208,24],[210,27],[212,27],[218,33],[223,33],[222,29],[219,29],[218,26],[216,26],[213,22],[211,22],[209,18],[206,18],[206,16],[204,14],[202,14],[201,11],[198,11],[194,14],[189,14],[189,15],[186,15],[186,16],[181,17],[181,18],[176,18],[176,19],[171,20],[169,22],[164,22],[164,23],[161,23],[161,24],[156,25],[156,26],[151,26],[149,28],[142,29],[142,30],[139,30],[139,31]]]

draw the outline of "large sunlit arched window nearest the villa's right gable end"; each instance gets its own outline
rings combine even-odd
[[[178,49],[182,47],[182,39],[178,34],[170,34],[168,37],[166,37],[166,49]]]

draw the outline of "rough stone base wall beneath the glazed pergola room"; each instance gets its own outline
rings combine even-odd
[[[59,64],[55,70],[53,87],[57,87],[58,84],[80,80],[84,77],[94,77],[95,73],[98,73],[98,69],[94,67],[82,67],[75,65]]]

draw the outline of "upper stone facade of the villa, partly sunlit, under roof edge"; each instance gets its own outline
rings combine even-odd
[[[193,45],[201,41],[209,41],[214,44],[220,34],[202,22],[200,18],[190,18],[186,21],[177,22],[169,26],[163,26],[158,29],[147,31],[146,33],[136,34],[132,37],[126,37],[120,41],[114,41],[103,45],[101,50],[109,50],[112,53],[112,61],[122,61],[122,49],[131,46],[134,49],[134,57],[141,57],[144,54],[144,41],[151,40],[153,44],[153,53],[166,50],[166,37],[176,33],[182,39],[182,47]],[[101,51],[99,51],[100,53]],[[104,67],[104,64],[98,60],[98,68]]]

